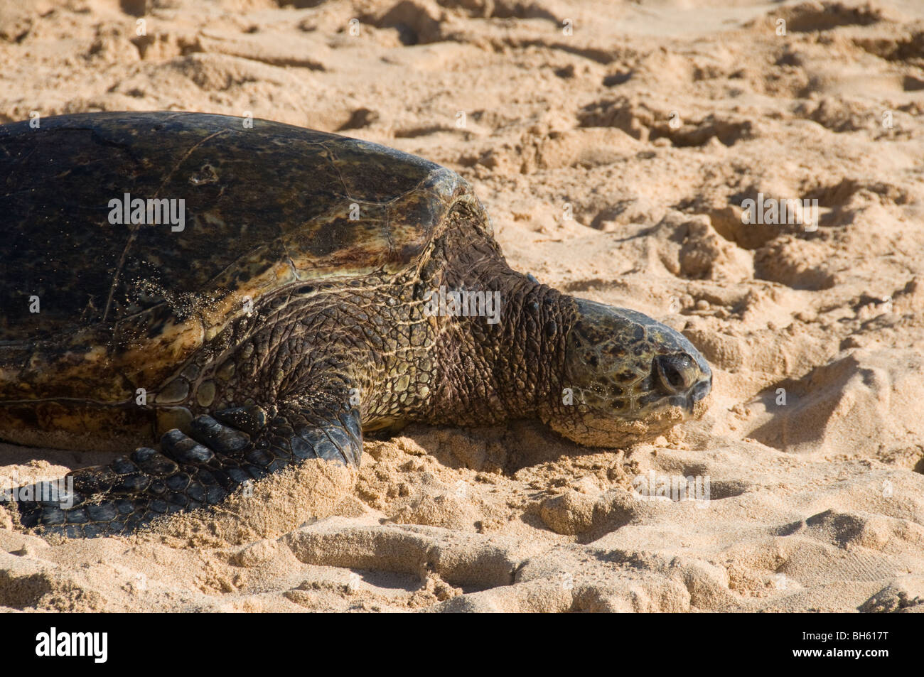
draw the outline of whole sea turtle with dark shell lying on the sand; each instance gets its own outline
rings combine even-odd
[[[459,175],[358,139],[172,112],[4,125],[0,228],[0,439],[159,441],[68,496],[19,491],[45,532],[129,533],[301,459],[359,464],[364,432],[409,421],[625,445],[711,389],[681,333],[511,270]]]

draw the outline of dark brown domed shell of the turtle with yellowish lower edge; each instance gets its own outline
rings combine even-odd
[[[0,400],[130,402],[247,301],[412,265],[458,200],[437,164],[259,119],[0,126]]]

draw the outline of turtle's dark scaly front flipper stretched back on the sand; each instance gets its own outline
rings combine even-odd
[[[287,465],[310,458],[359,465],[361,453],[359,411],[319,394],[269,412],[247,406],[196,417],[190,435],[166,432],[160,452],[141,447],[109,465],[80,468],[65,478],[65,487],[73,479],[71,493],[16,505],[20,524],[43,534],[129,534],[164,514],[220,503]],[[40,496],[41,487],[29,489],[26,495]]]

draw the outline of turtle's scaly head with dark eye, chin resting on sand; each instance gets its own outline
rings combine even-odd
[[[712,372],[683,334],[635,310],[573,300],[561,401],[542,412],[553,429],[615,447],[702,416]]]

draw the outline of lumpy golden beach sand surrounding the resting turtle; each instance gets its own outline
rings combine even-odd
[[[924,6],[155,0],[138,36],[144,6],[0,3],[0,121],[250,112],[443,163],[515,267],[682,329],[711,408],[619,453],[407,429],[133,538],[0,516],[0,606],[924,610]],[[743,224],[759,193],[820,223]],[[104,460],[3,445],[0,475]]]

